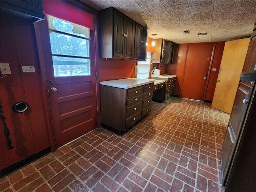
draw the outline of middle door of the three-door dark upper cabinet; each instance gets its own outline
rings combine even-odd
[[[124,20],[124,57],[134,58],[135,23],[130,18]]]

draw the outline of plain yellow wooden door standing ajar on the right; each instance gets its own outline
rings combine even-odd
[[[225,43],[212,107],[231,113],[250,38]]]

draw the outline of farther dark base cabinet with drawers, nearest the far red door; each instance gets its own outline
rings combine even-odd
[[[172,96],[174,93],[176,77],[163,79],[156,76],[154,77],[151,76],[151,78],[158,79],[158,80],[165,80],[165,84],[161,84],[161,86],[163,86],[164,88],[154,91],[153,101],[162,103],[168,100],[168,98],[170,98],[170,96]]]

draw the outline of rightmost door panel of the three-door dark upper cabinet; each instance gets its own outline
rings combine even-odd
[[[136,23],[135,26],[135,44],[134,44],[134,59],[142,58],[142,33],[143,27]]]

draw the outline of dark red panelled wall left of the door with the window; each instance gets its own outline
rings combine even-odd
[[[14,149],[7,150],[1,123],[1,169],[50,146],[47,131],[40,70],[32,24],[1,12],[1,62],[8,62],[12,74],[1,79],[2,109]],[[37,74],[21,74],[20,66],[35,66]],[[3,75],[1,75],[2,77]],[[12,105],[26,101],[24,114]]]

